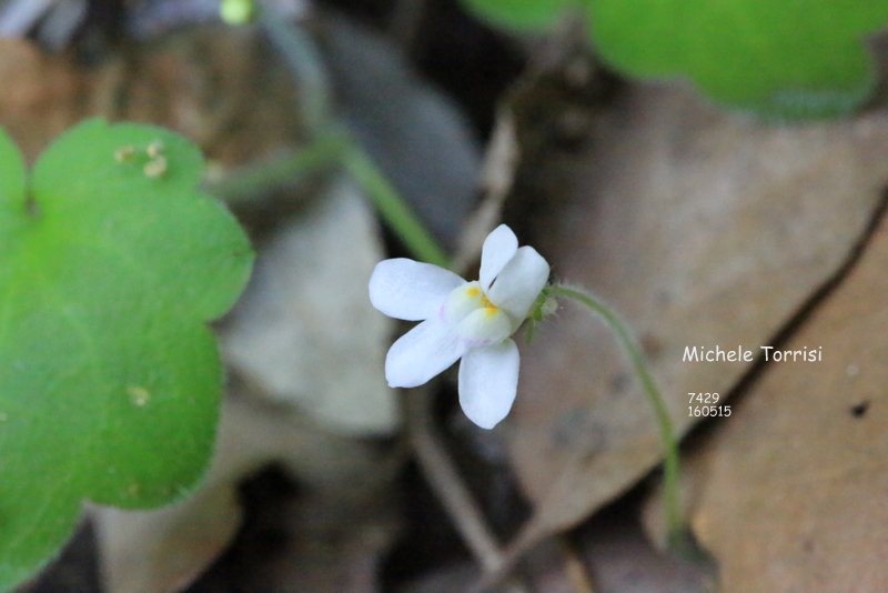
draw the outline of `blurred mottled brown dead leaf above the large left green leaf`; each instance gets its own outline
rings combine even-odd
[[[93,103],[113,120],[172,128],[209,159],[242,164],[303,139],[292,79],[252,28],[185,29],[134,48],[95,74],[107,97]],[[121,72],[122,70],[122,72]]]

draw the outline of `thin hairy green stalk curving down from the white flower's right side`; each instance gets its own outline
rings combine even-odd
[[[619,316],[594,296],[579,290],[566,287],[551,285],[546,289],[548,294],[567,296],[574,299],[596,313],[605,324],[614,332],[617,341],[623,346],[629,363],[642,383],[642,388],[647,396],[647,401],[654,410],[654,415],[659,425],[660,441],[664,450],[664,499],[666,504],[666,520],[669,529],[672,542],[677,542],[684,532],[684,519],[679,501],[679,464],[678,464],[678,440],[675,435],[672,418],[666,402],[663,400],[654,376],[647,366],[642,349],[635,341],[630,330]]]

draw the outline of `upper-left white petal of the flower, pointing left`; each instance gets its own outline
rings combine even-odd
[[[465,280],[437,265],[398,258],[381,261],[370,277],[370,302],[395,319],[420,321],[437,313]]]

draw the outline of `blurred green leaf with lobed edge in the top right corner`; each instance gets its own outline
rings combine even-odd
[[[858,108],[875,84],[864,38],[888,0],[585,0],[591,34],[614,68],[685,74],[713,99],[776,119]]]

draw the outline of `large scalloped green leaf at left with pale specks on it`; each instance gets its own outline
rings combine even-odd
[[[30,182],[0,133],[0,590],[64,543],[82,501],[152,507],[200,480],[222,366],[206,322],[252,264],[172,132],[90,120]]]

